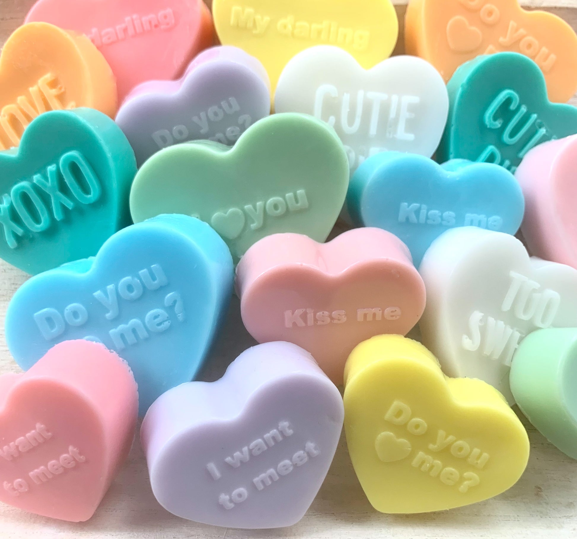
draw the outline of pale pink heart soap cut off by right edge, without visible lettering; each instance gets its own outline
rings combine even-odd
[[[577,268],[577,136],[539,144],[515,173],[527,211],[522,224],[529,252]]]

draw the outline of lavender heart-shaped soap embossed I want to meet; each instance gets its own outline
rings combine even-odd
[[[234,528],[297,523],[335,454],[343,401],[305,350],[243,352],[222,379],[160,396],[140,437],[152,491],[183,518]]]

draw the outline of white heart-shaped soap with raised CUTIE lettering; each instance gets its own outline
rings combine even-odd
[[[432,156],[449,98],[443,78],[421,58],[396,56],[365,70],[341,48],[318,46],[288,62],[275,110],[310,114],[334,127],[354,171],[387,150]]]

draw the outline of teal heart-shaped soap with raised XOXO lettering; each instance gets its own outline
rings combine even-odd
[[[0,152],[0,258],[37,274],[93,256],[130,223],[136,161],[122,130],[91,108],[32,121]]]

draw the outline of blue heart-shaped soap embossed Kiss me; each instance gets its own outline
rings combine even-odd
[[[439,165],[387,152],[366,160],[351,178],[347,208],[358,226],[388,230],[409,247],[415,265],[431,242],[459,226],[515,234],[523,193],[514,176],[490,163],[455,159]]]

